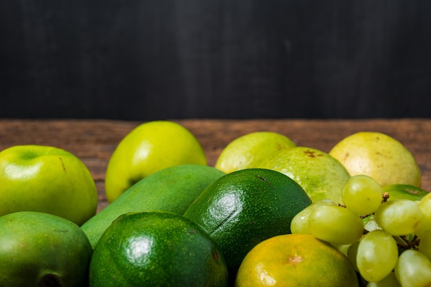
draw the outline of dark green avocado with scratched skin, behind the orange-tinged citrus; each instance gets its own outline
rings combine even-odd
[[[304,189],[283,173],[242,169],[215,180],[184,216],[207,230],[222,248],[233,276],[253,246],[291,233],[292,218],[310,204]]]

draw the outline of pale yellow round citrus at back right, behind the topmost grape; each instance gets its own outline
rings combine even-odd
[[[411,184],[421,187],[421,171],[412,153],[401,142],[375,131],[360,131],[343,138],[330,150],[351,176],[374,178],[384,187]]]

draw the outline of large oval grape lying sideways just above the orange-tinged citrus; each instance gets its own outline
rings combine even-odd
[[[317,206],[310,214],[308,228],[312,235],[331,244],[351,244],[364,233],[361,218],[337,205]]]

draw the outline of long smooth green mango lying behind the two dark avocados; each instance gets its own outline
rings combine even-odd
[[[81,228],[96,245],[106,228],[120,215],[140,211],[170,211],[182,215],[222,171],[200,164],[168,167],[143,178],[117,200],[85,222]]]

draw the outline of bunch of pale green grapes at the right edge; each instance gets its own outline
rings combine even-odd
[[[333,244],[367,287],[431,286],[431,193],[392,199],[369,176],[352,176],[343,205],[314,202],[293,217],[292,233]]]

